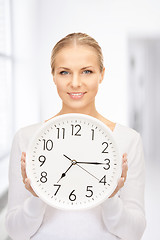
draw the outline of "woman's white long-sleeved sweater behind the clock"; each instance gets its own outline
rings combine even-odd
[[[116,124],[113,135],[120,154],[128,154],[124,187],[104,203],[89,210],[62,211],[46,205],[24,187],[21,153],[34,132],[44,123],[20,129],[13,140],[9,167],[6,228],[14,240],[139,240],[144,214],[145,165],[140,134]]]

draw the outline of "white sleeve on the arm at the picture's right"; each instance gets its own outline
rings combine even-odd
[[[122,142],[123,140],[121,140]],[[140,240],[146,225],[144,214],[145,165],[139,134],[128,146],[128,177],[125,186],[102,204],[107,230],[123,240]]]

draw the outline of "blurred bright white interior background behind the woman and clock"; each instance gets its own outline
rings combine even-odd
[[[159,0],[0,0],[0,240],[9,240],[4,218],[13,136],[60,110],[50,55],[72,32],[87,33],[102,47],[106,73],[97,96],[99,112],[142,136],[147,218],[142,239],[158,240]]]

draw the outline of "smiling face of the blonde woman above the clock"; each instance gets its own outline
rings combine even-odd
[[[68,46],[56,55],[53,80],[63,106],[83,110],[94,104],[103,76],[92,47]]]

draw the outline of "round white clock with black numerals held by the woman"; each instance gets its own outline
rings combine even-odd
[[[27,176],[36,194],[60,209],[86,209],[106,200],[122,172],[112,131],[84,114],[57,116],[30,142]]]

